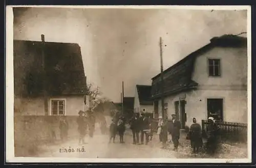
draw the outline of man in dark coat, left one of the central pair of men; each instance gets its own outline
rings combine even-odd
[[[139,121],[140,114],[136,113],[135,116],[132,118],[130,125],[131,130],[133,132],[133,144],[139,144],[139,127],[140,127],[140,121]]]

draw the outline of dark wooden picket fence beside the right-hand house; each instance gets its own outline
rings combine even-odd
[[[247,141],[247,124],[216,121],[219,127],[219,134],[222,141]],[[203,137],[206,137],[207,120],[202,120]]]

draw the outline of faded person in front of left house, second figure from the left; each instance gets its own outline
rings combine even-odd
[[[84,144],[84,136],[86,135],[87,131],[87,123],[86,119],[84,118],[84,112],[80,110],[78,112],[79,117],[77,118],[77,124],[78,124],[78,132],[79,132],[79,144]]]

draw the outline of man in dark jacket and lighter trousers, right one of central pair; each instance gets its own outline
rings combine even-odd
[[[144,144],[144,136],[146,138],[145,144],[147,145],[149,141],[148,133],[147,131],[150,129],[150,123],[148,121],[148,118],[145,116],[144,113],[141,114],[140,118],[140,144]]]

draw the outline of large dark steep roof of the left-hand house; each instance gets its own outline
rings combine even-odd
[[[15,95],[39,96],[43,93],[43,61],[49,96],[84,95],[86,92],[86,76],[78,44],[14,40],[13,52]]]

